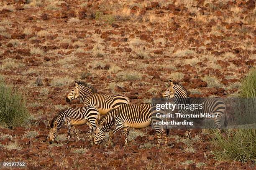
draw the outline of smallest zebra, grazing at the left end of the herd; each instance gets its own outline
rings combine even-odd
[[[49,143],[53,143],[53,141],[56,139],[57,133],[61,129],[62,125],[67,126],[67,143],[69,143],[70,141],[71,129],[76,135],[77,140],[80,140],[74,125],[84,125],[86,123],[89,124],[90,135],[88,140],[92,140],[92,130],[95,131],[97,128],[96,119],[98,115],[98,110],[92,106],[67,108],[58,112],[58,114],[53,118],[50,124],[51,129],[49,132]]]

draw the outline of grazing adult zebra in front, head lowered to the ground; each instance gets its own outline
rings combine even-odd
[[[162,125],[157,124],[161,121],[158,115],[165,114],[164,110],[156,110],[156,106],[151,104],[140,104],[140,105],[120,105],[120,107],[110,110],[106,115],[102,116],[99,121],[99,126],[96,130],[96,135],[94,138],[94,143],[100,145],[105,139],[105,133],[110,130],[112,126],[115,128],[110,132],[109,140],[107,145],[110,145],[112,142],[113,135],[118,132],[118,130],[124,131],[125,144],[127,146],[127,128],[146,128],[153,124],[153,127],[157,133],[157,145],[160,146],[161,137],[164,138],[165,146],[168,146],[167,143],[167,134],[169,130],[165,130]]]

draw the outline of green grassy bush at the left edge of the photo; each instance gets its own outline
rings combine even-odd
[[[0,77],[0,103],[1,125],[15,127],[27,124],[30,114],[26,107],[26,97],[7,86],[3,77]]]

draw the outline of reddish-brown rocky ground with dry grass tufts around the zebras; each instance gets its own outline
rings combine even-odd
[[[256,169],[251,163],[212,158],[209,135],[172,130],[169,148],[156,147],[151,128],[131,131],[113,146],[82,141],[46,142],[47,120],[71,104],[74,80],[98,92],[150,102],[182,83],[191,97],[237,96],[240,80],[255,67],[253,0],[5,0],[0,2],[0,74],[26,93],[31,124],[0,129],[0,161],[25,161],[28,169]]]

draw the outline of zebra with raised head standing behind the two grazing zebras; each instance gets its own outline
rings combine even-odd
[[[91,105],[95,107],[101,115],[105,115],[109,110],[120,105],[130,104],[129,98],[125,95],[97,93],[93,87],[84,82],[76,80],[74,82],[75,87],[67,94],[67,102],[79,98],[84,106]]]

